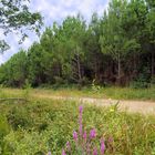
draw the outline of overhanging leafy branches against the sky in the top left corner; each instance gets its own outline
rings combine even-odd
[[[0,1],[0,29],[7,35],[10,32],[21,33],[20,43],[28,37],[23,30],[33,30],[39,33],[42,25],[42,17],[39,12],[31,12],[29,0],[1,0]],[[4,40],[0,40],[0,52],[9,49]]]

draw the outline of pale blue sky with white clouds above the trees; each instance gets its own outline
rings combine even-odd
[[[31,11],[39,11],[42,14],[43,27],[45,28],[52,25],[54,21],[61,23],[65,17],[76,16],[78,13],[81,13],[86,21],[91,19],[93,12],[97,12],[99,16],[102,16],[104,10],[107,9],[108,1],[110,0],[31,0],[29,7]],[[3,38],[2,30],[0,30],[0,38]],[[19,37],[13,33],[8,34],[7,41],[11,48],[3,54],[0,54],[0,64],[9,60],[9,58],[20,49],[27,50],[38,40],[39,38],[30,32],[29,38],[19,45]]]

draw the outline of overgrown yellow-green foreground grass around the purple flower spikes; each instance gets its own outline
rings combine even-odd
[[[41,90],[30,93],[37,94],[38,91]],[[51,90],[44,92],[51,93]],[[22,96],[24,93],[3,90],[4,96]],[[29,100],[27,104],[11,101],[0,104],[0,154],[45,155],[51,151],[53,155],[60,155],[66,142],[73,141],[73,131],[78,130],[79,103]],[[127,114],[118,112],[115,106],[101,108],[85,104],[83,124],[86,131],[96,128],[97,140],[104,138],[105,155],[155,154],[155,117],[152,115]]]

